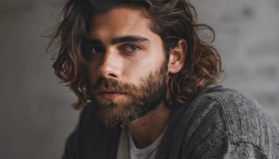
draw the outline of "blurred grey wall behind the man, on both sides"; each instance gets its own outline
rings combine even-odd
[[[216,30],[226,86],[254,97],[279,123],[279,0],[192,0]],[[60,158],[78,111],[45,54],[62,0],[0,1],[0,158]]]

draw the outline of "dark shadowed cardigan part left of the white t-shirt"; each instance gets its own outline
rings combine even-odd
[[[77,128],[67,139],[63,158],[114,158],[120,132],[119,127],[107,128],[101,123],[96,107],[88,103],[82,108]]]

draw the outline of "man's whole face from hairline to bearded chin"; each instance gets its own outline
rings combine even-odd
[[[163,43],[140,10],[116,8],[91,17],[86,56],[89,91],[107,126],[126,125],[165,96]]]

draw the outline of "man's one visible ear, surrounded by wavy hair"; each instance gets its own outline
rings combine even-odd
[[[169,73],[178,73],[184,65],[188,44],[185,39],[180,39],[178,45],[169,52]]]

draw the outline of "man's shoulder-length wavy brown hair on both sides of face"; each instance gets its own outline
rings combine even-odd
[[[220,55],[211,45],[214,31],[197,23],[195,8],[186,0],[76,0],[66,1],[59,26],[51,34],[50,45],[57,42],[60,50],[54,59],[56,75],[70,86],[78,97],[74,107],[79,109],[88,100],[88,77],[84,42],[88,39],[89,19],[113,8],[140,9],[151,19],[149,27],[163,40],[166,57],[181,38],[186,39],[186,61],[179,73],[170,75],[167,86],[171,103],[186,103],[202,93],[206,86],[218,83],[221,69]],[[202,39],[201,31],[209,30],[212,40]],[[49,45],[49,47],[50,47]],[[168,59],[168,58],[167,58]]]

